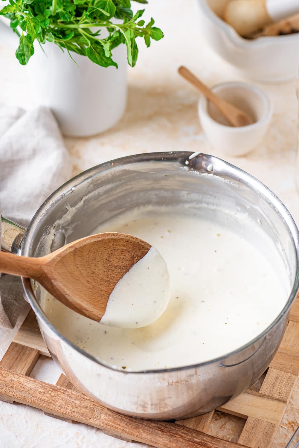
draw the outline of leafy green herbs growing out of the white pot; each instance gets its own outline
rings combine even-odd
[[[0,10],[20,38],[16,56],[22,65],[34,54],[37,40],[40,45],[55,43],[69,56],[70,52],[87,56],[102,67],[117,67],[111,51],[121,43],[126,45],[128,63],[133,67],[138,56],[137,37],[143,37],[147,47],[151,39],[162,39],[153,18],[147,25],[140,19],[143,13],[141,9],[133,14],[130,0],[9,0]],[[103,28],[109,33],[105,38],[101,37]]]

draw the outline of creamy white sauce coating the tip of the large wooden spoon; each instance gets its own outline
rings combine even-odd
[[[120,328],[145,327],[164,313],[169,297],[167,264],[151,247],[115,285],[100,323]]]

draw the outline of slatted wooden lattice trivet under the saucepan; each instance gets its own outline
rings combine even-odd
[[[157,448],[268,448],[299,374],[299,297],[290,310],[282,344],[259,392],[248,390],[219,410],[246,418],[238,444],[206,434],[215,411],[174,423],[127,417],[79,392],[61,375],[56,385],[30,378],[43,354],[50,356],[31,310],[0,361],[0,400],[24,403],[67,422],[81,422],[127,441]]]

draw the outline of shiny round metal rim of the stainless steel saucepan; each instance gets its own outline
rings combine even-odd
[[[145,153],[145,154],[137,154],[137,155],[130,155],[126,157],[121,157],[119,159],[110,160],[109,162],[105,162],[103,164],[96,165],[93,168],[90,168],[77,176],[73,177],[63,185],[61,185],[54,193],[52,193],[46,201],[43,202],[41,207],[39,207],[38,211],[35,213],[34,217],[32,218],[24,240],[22,242],[21,246],[21,255],[30,256],[30,248],[31,248],[31,238],[34,236],[34,228],[38,226],[38,221],[41,218],[41,216],[45,213],[47,210],[47,207],[49,204],[61,199],[61,197],[64,197],[71,188],[81,182],[85,182],[88,179],[91,179],[94,177],[95,174],[100,174],[101,172],[105,172],[107,170],[125,166],[132,163],[142,163],[142,162],[164,162],[164,161],[170,161],[175,163],[180,163],[182,167],[184,166],[186,169],[192,170],[192,166],[186,166],[185,161],[188,160],[189,156],[192,154],[192,152],[185,152],[185,151],[169,151],[169,152],[153,152],[153,153]],[[269,204],[275,209],[275,211],[278,213],[280,218],[284,221],[284,224],[286,228],[289,231],[290,237],[293,241],[294,247],[295,247],[295,257],[296,257],[296,274],[295,274],[295,281],[292,286],[290,295],[288,300],[286,301],[285,306],[283,307],[280,314],[278,314],[277,318],[267,327],[262,333],[260,333],[258,336],[256,336],[254,339],[250,340],[247,344],[242,345],[238,349],[226,353],[225,355],[222,355],[219,358],[211,359],[209,361],[205,362],[199,362],[197,364],[192,364],[189,366],[181,366],[181,367],[172,367],[168,369],[157,369],[157,370],[123,370],[120,369],[120,367],[111,366],[109,364],[106,364],[105,362],[102,362],[100,359],[95,358],[90,353],[85,352],[85,350],[81,349],[80,347],[77,347],[72,341],[68,340],[65,336],[63,336],[58,329],[50,322],[50,320],[47,318],[46,314],[43,312],[41,306],[38,304],[38,301],[35,297],[34,291],[32,289],[31,281],[28,278],[22,277],[22,283],[23,288],[26,293],[26,297],[28,299],[28,302],[30,303],[32,309],[34,310],[34,313],[37,315],[38,319],[40,319],[47,327],[51,329],[52,332],[56,334],[60,338],[60,340],[63,340],[64,343],[69,345],[71,348],[76,350],[77,352],[81,353],[83,356],[89,358],[90,360],[96,362],[97,364],[100,364],[103,367],[106,367],[107,369],[113,370],[115,372],[120,372],[123,375],[132,375],[132,374],[160,374],[165,372],[175,372],[180,370],[189,370],[189,369],[196,369],[200,368],[202,366],[208,366],[209,364],[219,363],[222,362],[224,359],[230,358],[231,356],[236,355],[237,353],[241,352],[242,350],[248,348],[249,346],[255,344],[258,340],[260,340],[262,337],[266,336],[269,331],[284,317],[284,315],[289,311],[291,304],[294,302],[296,294],[299,289],[299,231],[295,224],[294,219],[290,215],[290,212],[287,210],[286,206],[282,203],[282,201],[271,191],[268,187],[266,187],[261,181],[258,181],[255,177],[251,176],[247,172],[241,170],[238,167],[235,167],[232,164],[229,164],[228,162],[219,159],[217,157],[214,157],[212,155],[206,155],[206,154],[199,154],[197,157],[202,158],[205,161],[205,167],[209,166],[209,164],[213,164],[214,172],[217,174],[217,166],[220,168],[225,167],[228,171],[231,177],[235,178],[235,180],[242,181],[244,184],[250,185],[252,188],[254,188],[256,191],[259,192],[259,194],[267,200]],[[197,158],[196,157],[196,158]],[[197,169],[196,169],[197,171]],[[208,170],[205,170],[205,172],[209,172]],[[210,172],[210,174],[212,174]],[[238,175],[237,175],[238,174]]]

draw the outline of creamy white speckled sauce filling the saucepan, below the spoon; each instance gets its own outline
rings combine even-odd
[[[94,233],[135,235],[165,259],[171,277],[170,301],[156,322],[136,329],[108,327],[46,296],[44,309],[51,322],[77,346],[127,370],[208,361],[258,336],[288,297],[286,282],[278,275],[286,271],[282,259],[276,249],[271,252],[273,242],[268,244],[268,237],[263,244],[269,251],[264,255],[247,232],[232,231],[205,219],[203,213],[182,207],[144,207],[95,229]]]

